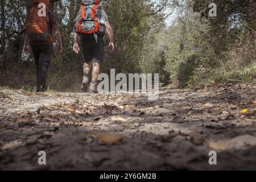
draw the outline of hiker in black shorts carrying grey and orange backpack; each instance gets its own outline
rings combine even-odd
[[[95,10],[95,11],[93,11]],[[100,73],[100,63],[104,61],[104,35],[109,36],[109,50],[114,51],[113,30],[108,16],[98,0],[82,0],[74,27],[73,51],[79,53],[78,35],[82,45],[84,61],[84,76],[82,77],[82,92],[98,93],[97,79]],[[89,84],[89,72],[92,64],[92,81]],[[89,90],[88,90],[89,88]]]

